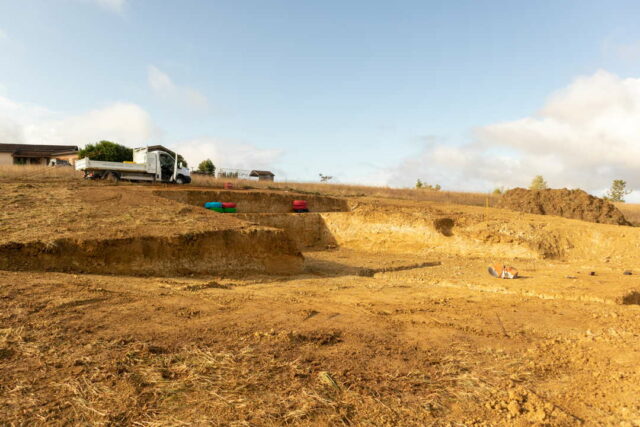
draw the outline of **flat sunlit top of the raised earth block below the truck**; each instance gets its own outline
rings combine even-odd
[[[0,183],[0,244],[167,236],[244,226],[231,215],[213,216],[208,210],[156,197],[153,191],[150,186]]]

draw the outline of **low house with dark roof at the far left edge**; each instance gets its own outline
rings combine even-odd
[[[75,145],[0,144],[0,165],[49,165],[65,160],[72,165],[78,159]]]

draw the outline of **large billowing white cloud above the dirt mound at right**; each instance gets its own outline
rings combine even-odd
[[[552,187],[600,192],[617,178],[640,187],[640,78],[606,71],[579,77],[538,113],[476,129],[472,143],[425,145],[394,168],[390,183],[421,178],[487,191],[527,186],[538,174]]]

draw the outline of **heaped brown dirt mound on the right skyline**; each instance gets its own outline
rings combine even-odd
[[[507,191],[498,207],[538,215],[556,215],[565,218],[601,224],[631,225],[613,203],[593,197],[582,190],[527,190],[514,188]]]

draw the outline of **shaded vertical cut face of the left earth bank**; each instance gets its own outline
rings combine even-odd
[[[0,245],[0,270],[141,276],[289,274],[302,271],[303,263],[284,231],[266,227]]]

